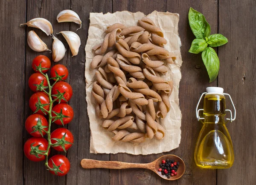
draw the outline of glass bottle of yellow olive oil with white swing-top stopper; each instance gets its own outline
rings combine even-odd
[[[226,109],[223,88],[210,87],[204,94],[204,109],[196,111],[198,120],[204,120],[204,125],[195,147],[195,163],[202,168],[230,168],[234,162],[234,151],[230,134],[225,125],[224,117],[226,111],[230,110]],[[231,117],[227,119],[231,122],[236,118],[236,109],[234,106],[233,108],[234,118],[230,111]],[[199,111],[204,111],[204,118],[198,116]]]

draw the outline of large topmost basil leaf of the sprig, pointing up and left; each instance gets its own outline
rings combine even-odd
[[[189,9],[189,25],[198,39],[204,39],[211,33],[211,27],[205,20],[204,15],[192,8]]]

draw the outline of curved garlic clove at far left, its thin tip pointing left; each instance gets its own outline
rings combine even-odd
[[[22,25],[26,25],[33,28],[39,28],[42,31],[44,31],[44,33],[46,33],[47,36],[53,33],[52,24],[49,22],[49,20],[44,18],[35,18],[32,20],[29,20],[29,22],[27,23],[20,24],[20,26]]]

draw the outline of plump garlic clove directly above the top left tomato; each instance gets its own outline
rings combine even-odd
[[[38,37],[38,35],[33,30],[29,31],[27,41],[29,47],[34,51],[50,51],[50,53],[52,52],[49,48],[47,48],[46,44]]]

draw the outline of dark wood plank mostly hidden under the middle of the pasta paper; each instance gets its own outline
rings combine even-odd
[[[121,1],[121,0],[113,0],[113,12],[115,11],[131,11],[137,12],[141,11],[144,14],[149,14],[154,10],[157,11],[166,11],[166,0],[144,0],[143,3],[141,1]],[[151,162],[157,157],[160,157],[162,154],[153,154],[146,156],[134,156],[130,154],[111,154],[111,161],[123,161],[123,162],[134,162],[134,163],[147,163]],[[136,184],[136,185],[144,185],[144,184],[158,184],[161,182],[161,178],[154,174],[154,172],[150,170],[144,169],[125,169],[125,170],[110,170],[110,184]]]

